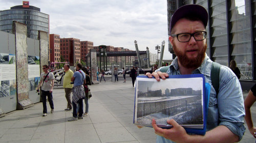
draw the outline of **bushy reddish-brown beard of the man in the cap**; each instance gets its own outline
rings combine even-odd
[[[199,54],[196,58],[188,58],[186,56],[186,52],[182,53],[180,50],[177,49],[175,43],[173,45],[174,53],[178,56],[178,60],[180,64],[185,68],[200,67],[205,58],[206,48],[207,48],[207,44],[205,43],[204,48],[201,49],[201,51],[199,51]]]

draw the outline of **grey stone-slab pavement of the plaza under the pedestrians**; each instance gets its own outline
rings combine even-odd
[[[133,124],[134,90],[131,78],[123,83],[106,82],[91,85],[89,115],[68,122],[72,111],[67,106],[63,89],[53,91],[54,113],[42,117],[42,103],[15,110],[0,118],[0,142],[156,142],[153,128]],[[244,92],[244,97],[248,92]],[[255,105],[252,116],[256,119]],[[254,123],[255,120],[253,121]],[[254,142],[248,130],[240,142]]]

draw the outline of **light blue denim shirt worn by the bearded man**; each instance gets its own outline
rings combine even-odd
[[[211,85],[206,131],[223,125],[231,132],[238,135],[239,140],[241,140],[245,132],[243,122],[245,109],[239,79],[230,68],[221,66],[219,94],[217,98],[216,91],[214,87],[212,87],[210,79],[211,64],[212,61],[205,54],[205,58],[201,66],[192,72],[192,74],[203,74],[205,82],[208,82]],[[160,69],[157,71],[159,70]],[[180,75],[177,57],[174,59],[166,73],[169,75]],[[157,136],[156,142],[172,142],[172,140],[168,140],[162,136]]]

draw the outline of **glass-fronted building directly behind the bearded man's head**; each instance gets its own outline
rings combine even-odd
[[[169,6],[171,4],[174,6]],[[187,4],[201,5],[208,11],[206,53],[210,59],[224,66],[229,66],[230,61],[235,60],[241,71],[240,82],[256,80],[256,1],[167,0],[168,17],[173,14],[170,8]],[[173,53],[170,44],[168,46],[170,53]]]

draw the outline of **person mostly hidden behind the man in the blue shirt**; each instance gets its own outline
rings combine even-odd
[[[82,67],[82,71],[85,71],[86,68]],[[86,97],[84,98],[84,104],[86,104],[86,111],[83,113],[83,117],[88,115],[89,112],[89,99],[92,97],[91,90],[88,85],[92,85],[91,78],[88,74],[86,74],[86,82],[83,82],[84,92],[86,93]]]

